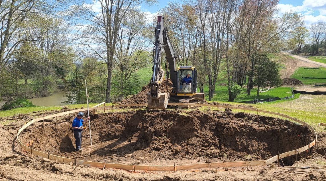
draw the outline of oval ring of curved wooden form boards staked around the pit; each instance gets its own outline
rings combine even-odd
[[[218,107],[218,108],[230,108],[230,109],[239,109],[239,110],[248,110],[248,111],[255,111],[255,112],[262,112],[262,113],[268,113],[268,114],[273,114],[276,116],[282,116],[284,118],[287,118],[288,120],[295,121],[296,123],[300,123],[304,126],[307,126],[310,130],[312,130],[315,134],[315,139],[310,142],[308,145],[305,145],[301,148],[281,153],[279,155],[275,155],[267,160],[255,160],[255,161],[233,161],[233,162],[212,162],[212,163],[198,163],[198,164],[187,164],[187,165],[126,165],[126,164],[113,164],[113,163],[103,163],[103,162],[94,162],[94,161],[84,161],[84,160],[79,160],[79,159],[73,159],[73,158],[66,158],[62,156],[56,156],[52,155],[50,153],[45,153],[38,151],[36,149],[33,149],[32,147],[28,147],[25,144],[22,143],[21,140],[19,140],[19,135],[22,133],[24,129],[26,129],[29,125],[32,123],[42,121],[45,119],[53,118],[56,116],[62,116],[70,113],[75,113],[75,112],[80,112],[80,111],[86,111],[87,108],[83,109],[76,109],[76,110],[71,110],[67,112],[62,112],[58,114],[53,114],[37,119],[33,119],[32,121],[26,123],[25,125],[22,126],[17,132],[17,143],[19,148],[26,150],[30,155],[35,154],[40,157],[60,161],[60,162],[65,162],[65,163],[74,163],[75,165],[85,165],[85,166],[90,166],[90,167],[98,167],[98,168],[112,168],[112,169],[125,169],[125,170],[141,170],[141,171],[178,171],[178,170],[190,170],[190,169],[210,169],[213,167],[242,167],[242,166],[258,166],[258,165],[269,165],[273,163],[276,160],[279,160],[280,158],[285,158],[288,156],[293,156],[298,153],[302,153],[311,147],[313,147],[316,144],[317,141],[317,133],[314,130],[313,127],[311,127],[309,124],[300,121],[296,118],[292,118],[288,115],[281,114],[281,113],[276,113],[276,112],[271,112],[271,111],[265,111],[265,110],[259,110],[256,108],[247,108],[247,107],[235,107],[235,106],[224,106],[224,105],[210,105],[210,104],[183,104],[183,103],[169,103],[170,106],[206,106],[206,107]],[[126,104],[126,105],[113,105],[113,106],[103,106],[101,109],[109,109],[109,108],[114,108],[114,107],[131,107],[131,106],[147,106],[147,104]],[[89,108],[90,111],[92,110],[98,110],[99,107],[91,107]],[[94,111],[93,111],[94,114]]]

